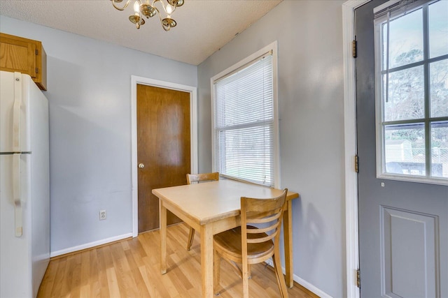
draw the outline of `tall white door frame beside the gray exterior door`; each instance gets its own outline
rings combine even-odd
[[[358,175],[355,172],[356,147],[356,70],[352,57],[355,36],[355,9],[370,0],[349,0],[342,4],[343,64],[344,64],[344,156],[345,156],[345,239],[346,290],[348,298],[360,297],[356,285],[359,269],[358,237]]]

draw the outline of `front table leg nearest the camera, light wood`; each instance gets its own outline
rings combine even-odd
[[[214,297],[213,292],[213,233],[208,225],[201,226],[202,297]]]

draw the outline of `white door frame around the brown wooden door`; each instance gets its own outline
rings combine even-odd
[[[131,76],[131,151],[132,151],[132,237],[139,235],[139,186],[137,173],[137,84],[188,92],[190,94],[190,164],[197,173],[197,87]]]

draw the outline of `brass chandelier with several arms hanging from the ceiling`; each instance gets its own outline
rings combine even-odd
[[[118,10],[125,10],[131,0],[127,0],[123,7],[116,6],[116,3],[123,2],[123,0],[111,0],[113,7]],[[134,1],[134,15],[130,15],[129,20],[135,24],[137,29],[140,29],[140,26],[145,24],[145,20],[143,17],[145,16],[147,19],[153,17],[155,15],[159,15],[160,24],[162,24],[162,28],[165,31],[169,31],[172,27],[176,27],[176,21],[171,18],[172,13],[176,10],[176,7],[183,6],[183,0],[166,0],[167,4],[165,5],[164,0],[153,0],[153,3],[150,4],[151,0],[135,0]],[[155,4],[160,3],[159,6],[163,8],[163,10],[159,10]],[[165,12],[165,18],[162,18],[162,13]]]

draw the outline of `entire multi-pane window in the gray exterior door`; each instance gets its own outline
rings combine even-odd
[[[377,177],[448,184],[448,1],[393,5],[375,11]]]

